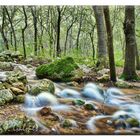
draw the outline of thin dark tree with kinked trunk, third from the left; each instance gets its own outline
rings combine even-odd
[[[24,22],[25,25],[22,28],[22,43],[23,43],[23,52],[24,52],[24,58],[26,58],[26,47],[25,47],[25,30],[27,28],[27,14],[26,14],[26,10],[25,7],[22,6],[22,10],[23,10],[23,14],[24,14]]]

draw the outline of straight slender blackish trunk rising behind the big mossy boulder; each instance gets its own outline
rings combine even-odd
[[[60,6],[57,6],[58,18],[57,18],[57,43],[56,43],[56,56],[60,57],[60,24],[61,24],[61,10]]]

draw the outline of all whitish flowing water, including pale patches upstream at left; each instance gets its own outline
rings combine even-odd
[[[13,65],[14,67],[18,67],[18,69],[24,72],[28,81],[36,80],[34,68],[27,68],[25,65],[20,64]],[[5,80],[5,78],[6,73],[0,72],[0,81]],[[100,106],[117,108],[115,112],[110,114],[100,112],[100,110],[97,111],[97,109],[95,110],[99,112],[97,115],[90,115],[86,118],[86,116],[83,114],[83,116],[86,118],[84,119],[86,120],[86,129],[91,132],[96,133],[96,123],[102,119],[107,119],[108,124],[112,124],[112,121],[118,119],[126,124],[125,129],[130,127],[125,121],[127,118],[135,118],[140,122],[140,103],[134,101],[131,96],[127,96],[117,88],[108,88],[105,90],[94,83],[87,83],[80,90],[76,90],[73,87],[70,88],[69,86],[64,87],[61,84],[55,83],[54,95],[48,92],[41,92],[37,96],[32,96],[27,93],[22,110],[24,110],[28,116],[32,117],[42,129],[47,131],[47,127],[41,123],[37,116],[37,113],[42,108],[50,107],[54,112],[74,112],[74,109],[81,109],[79,106],[74,107],[74,105],[71,104],[60,103],[59,99],[80,99],[85,101],[85,103],[96,103],[94,104],[95,108],[98,104]],[[76,113],[78,114],[77,110]],[[61,121],[65,119],[61,114],[59,116]],[[75,116],[75,118],[77,118],[77,116]]]

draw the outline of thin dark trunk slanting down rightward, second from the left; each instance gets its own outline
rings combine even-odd
[[[14,37],[14,47],[15,47],[15,51],[17,51],[17,39],[16,39],[15,29],[14,29],[14,26],[13,26],[13,21],[12,21],[12,18],[10,17],[10,14],[9,14],[8,9],[6,8],[6,6],[4,6],[4,9],[5,9],[5,12],[6,12],[7,16],[8,16],[9,23],[11,25],[11,30],[13,32],[13,37]]]

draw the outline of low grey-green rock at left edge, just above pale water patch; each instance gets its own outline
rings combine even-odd
[[[0,62],[0,69],[4,71],[13,70],[13,66],[10,62]]]

